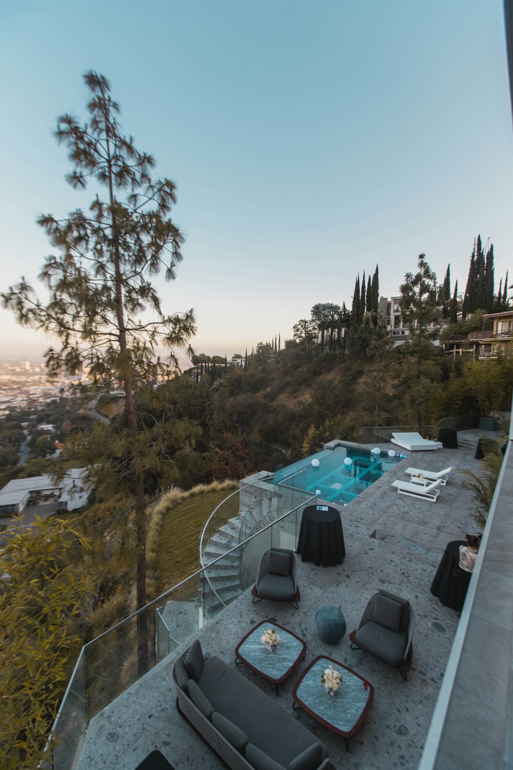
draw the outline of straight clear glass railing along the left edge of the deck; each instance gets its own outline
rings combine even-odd
[[[52,728],[52,770],[74,767],[92,717],[255,583],[264,551],[273,545],[295,550],[302,510],[315,500],[298,482],[274,487],[273,521],[85,644]],[[271,484],[261,484],[265,497]],[[256,487],[251,494],[258,494]]]

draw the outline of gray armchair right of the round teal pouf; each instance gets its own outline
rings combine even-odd
[[[398,668],[406,681],[411,668],[415,611],[408,599],[380,589],[371,596],[360,624],[351,631],[351,650],[364,650],[378,661]]]

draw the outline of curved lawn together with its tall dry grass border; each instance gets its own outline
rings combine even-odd
[[[198,537],[216,505],[238,487],[235,481],[200,484],[188,492],[176,487],[158,500],[147,538],[152,597],[176,585],[198,569]],[[238,495],[223,507],[220,524],[238,514]]]

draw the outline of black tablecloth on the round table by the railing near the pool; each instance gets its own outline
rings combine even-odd
[[[340,513],[328,506],[318,511],[317,505],[308,505],[301,517],[298,548],[301,561],[313,561],[318,567],[334,567],[345,557],[344,532]]]

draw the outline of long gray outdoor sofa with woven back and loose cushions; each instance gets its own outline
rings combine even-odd
[[[178,711],[233,770],[334,770],[324,743],[198,640],[173,678]]]

